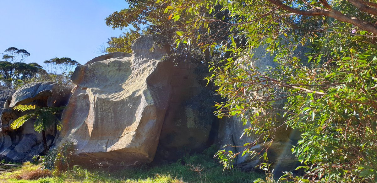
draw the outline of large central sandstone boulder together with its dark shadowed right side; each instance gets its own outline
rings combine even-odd
[[[158,146],[158,159],[206,148],[216,119],[212,93],[197,66],[161,61],[165,50],[151,52],[153,42],[138,38],[132,56],[110,53],[101,58],[115,58],[75,69],[60,142],[75,142],[77,162],[128,165],[151,162]]]

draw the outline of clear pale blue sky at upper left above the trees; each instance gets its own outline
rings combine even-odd
[[[26,63],[69,57],[85,64],[123,32],[104,20],[123,8],[124,0],[0,0],[0,53],[17,47],[31,54]]]

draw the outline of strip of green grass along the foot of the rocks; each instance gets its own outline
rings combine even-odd
[[[182,163],[185,162],[185,163]],[[185,165],[182,165],[185,164]],[[9,183],[249,183],[264,174],[242,172],[237,168],[223,171],[223,167],[204,154],[185,157],[176,163],[155,167],[141,166],[138,168],[103,168],[87,170],[74,166],[70,171],[38,180],[18,180],[17,175],[40,168],[31,163],[11,172],[0,174],[0,181]]]

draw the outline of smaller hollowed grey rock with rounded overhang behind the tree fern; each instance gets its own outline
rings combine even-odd
[[[12,130],[10,124],[27,112],[12,110],[16,105],[37,105],[42,107],[60,107],[67,104],[71,88],[54,82],[26,84],[4,102],[0,127],[0,155],[2,159],[13,162],[31,161],[32,157],[43,151],[42,134],[34,130],[34,120],[29,119],[18,130]],[[51,127],[46,131],[48,145],[53,142],[57,131]]]

